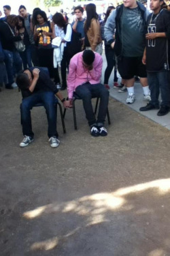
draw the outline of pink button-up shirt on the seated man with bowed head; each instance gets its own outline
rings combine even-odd
[[[101,83],[101,70],[103,59],[99,53],[95,53],[95,61],[92,63],[92,70],[88,71],[84,68],[82,63],[82,54],[74,55],[69,63],[69,74],[67,76],[67,90],[69,98],[73,98],[73,91],[79,85],[87,81],[92,85]]]

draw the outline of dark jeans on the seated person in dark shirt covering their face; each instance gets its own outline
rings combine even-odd
[[[22,100],[20,106],[21,120],[22,120],[22,133],[29,137],[33,137],[34,133],[32,131],[31,125],[31,109],[35,104],[42,102],[44,108],[46,109],[47,119],[48,119],[48,137],[56,136],[58,137],[58,132],[56,131],[56,98],[52,91],[41,91],[37,92],[27,98]]]

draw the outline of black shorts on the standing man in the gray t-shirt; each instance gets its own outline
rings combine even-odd
[[[118,57],[118,72],[122,79],[133,79],[134,76],[147,77],[146,65],[142,57]]]

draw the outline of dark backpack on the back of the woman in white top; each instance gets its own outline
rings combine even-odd
[[[65,33],[66,33],[66,30],[67,30],[67,26],[64,28]],[[72,58],[73,55],[75,55],[76,53],[80,53],[81,51],[82,51],[81,33],[75,32],[72,29],[71,41],[67,42],[67,54],[69,55],[70,58]]]

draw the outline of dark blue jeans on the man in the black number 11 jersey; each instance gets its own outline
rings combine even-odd
[[[170,72],[169,70],[160,72],[148,72],[148,84],[150,87],[150,103],[158,105],[159,91],[161,93],[161,105],[170,106]]]

